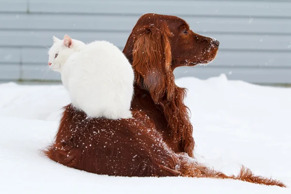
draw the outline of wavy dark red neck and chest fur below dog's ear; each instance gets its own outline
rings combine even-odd
[[[164,127],[168,129],[167,138],[170,138],[171,142],[175,144],[173,146],[178,146],[176,148],[178,151],[186,152],[192,157],[194,150],[193,126],[190,122],[188,107],[184,104],[186,90],[175,84],[173,97],[170,101],[165,94],[160,98],[160,101],[154,102],[149,91],[145,88],[136,83],[134,88],[132,109],[146,111],[148,116],[155,120],[158,128],[159,126],[162,128],[164,123],[166,125]]]

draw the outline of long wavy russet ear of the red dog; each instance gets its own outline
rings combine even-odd
[[[137,84],[149,91],[153,100],[171,100],[175,79],[171,69],[171,33],[165,23],[137,30],[132,51],[132,66]],[[167,99],[162,99],[166,95]]]

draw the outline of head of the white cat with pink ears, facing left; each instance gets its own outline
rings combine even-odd
[[[65,35],[63,40],[53,36],[53,45],[49,49],[49,67],[54,71],[61,72],[62,66],[69,56],[84,45],[83,42],[71,39],[68,35]]]

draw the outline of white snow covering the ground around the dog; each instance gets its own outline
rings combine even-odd
[[[228,81],[225,75],[181,78],[194,125],[197,160],[226,174],[239,165],[291,186],[291,88]],[[62,85],[0,84],[0,193],[290,194],[290,188],[229,179],[125,178],[95,175],[49,160],[41,149],[53,140]]]

